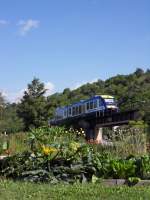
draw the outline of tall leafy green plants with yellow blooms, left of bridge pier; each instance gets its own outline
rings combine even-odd
[[[66,160],[76,160],[84,156],[86,144],[81,143],[83,131],[65,129],[64,127],[41,127],[31,129],[29,132],[29,143],[34,152],[49,151],[49,148],[57,149],[57,157]],[[80,141],[80,143],[79,143]],[[48,158],[48,157],[47,157]]]

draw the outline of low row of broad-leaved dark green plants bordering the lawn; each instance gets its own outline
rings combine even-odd
[[[84,146],[85,148],[85,146]],[[88,147],[86,147],[88,148]],[[76,151],[74,159],[70,155],[54,156],[50,159],[39,153],[24,152],[5,159],[0,175],[13,179],[55,182],[94,182],[99,178],[129,179],[137,177],[149,179],[150,157],[127,159],[110,158],[107,155],[90,154],[83,157],[82,148]],[[77,156],[78,154],[78,156]],[[72,154],[73,155],[73,154]]]

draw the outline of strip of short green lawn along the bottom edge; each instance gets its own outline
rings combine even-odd
[[[49,185],[0,181],[3,200],[148,200],[149,187],[106,187],[101,184]]]

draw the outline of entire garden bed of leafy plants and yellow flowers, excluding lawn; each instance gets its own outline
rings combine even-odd
[[[141,132],[138,135],[137,130],[132,133],[129,129],[126,137],[123,132],[122,141],[117,134],[112,146],[103,147],[86,144],[82,130],[32,129],[28,134],[30,149],[5,158],[0,176],[51,184],[95,183],[101,178],[124,178],[133,182],[135,178],[150,179],[150,156],[145,154],[144,135]]]

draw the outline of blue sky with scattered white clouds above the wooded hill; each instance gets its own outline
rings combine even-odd
[[[150,68],[149,0],[0,0],[0,91],[48,94]]]

